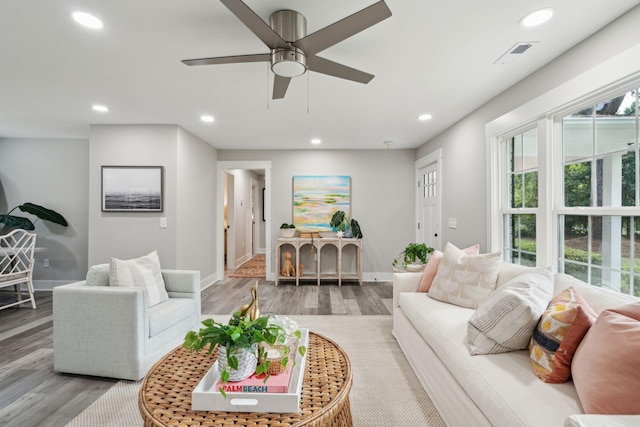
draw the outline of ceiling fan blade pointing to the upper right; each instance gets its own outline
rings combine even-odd
[[[223,0],[224,2],[224,0]],[[362,30],[377,24],[391,16],[391,11],[384,0],[381,0],[353,15],[324,27],[315,33],[293,43],[295,47],[302,49],[307,56],[321,52],[344,39],[359,33]]]

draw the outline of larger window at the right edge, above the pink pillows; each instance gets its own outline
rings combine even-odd
[[[638,90],[562,118],[558,269],[640,296]]]

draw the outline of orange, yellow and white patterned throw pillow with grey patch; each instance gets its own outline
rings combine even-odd
[[[563,383],[571,376],[571,360],[597,315],[574,288],[556,295],[531,337],[533,372],[547,383]]]

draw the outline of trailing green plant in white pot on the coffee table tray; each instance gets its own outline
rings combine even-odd
[[[205,319],[202,321],[204,328],[198,332],[189,331],[182,346],[198,352],[208,344],[208,352],[211,354],[217,345],[218,369],[223,383],[240,381],[254,372],[257,375],[264,374],[266,382],[271,363],[267,358],[266,348],[284,345],[290,338],[290,333],[282,326],[271,323],[269,319],[269,316],[261,316],[252,320],[249,316],[243,316],[241,311],[233,313],[227,324]],[[292,333],[295,338],[300,339],[300,331]],[[286,367],[289,363],[288,347],[283,348],[287,354],[280,363]],[[298,352],[304,356],[306,347],[298,346]],[[220,393],[226,396],[222,388]]]

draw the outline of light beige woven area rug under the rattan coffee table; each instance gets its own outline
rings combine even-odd
[[[214,317],[226,321],[229,316]],[[391,316],[291,316],[300,327],[338,343],[353,369],[353,425],[445,427],[442,418],[391,335]],[[140,382],[120,381],[67,427],[142,426]]]

